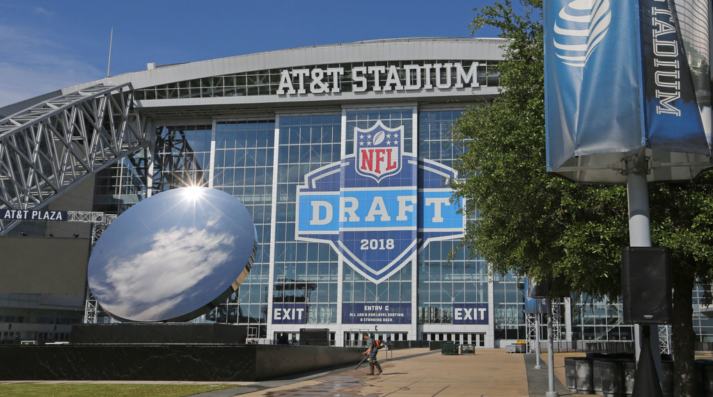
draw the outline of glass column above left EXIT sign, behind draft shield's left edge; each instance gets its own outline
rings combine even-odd
[[[342,147],[339,113],[279,117],[275,265],[272,302],[301,304],[305,324],[336,324],[339,258],[329,245],[295,240],[297,185],[304,175],[338,162]]]

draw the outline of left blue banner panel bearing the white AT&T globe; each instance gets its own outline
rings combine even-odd
[[[545,2],[548,169],[640,147],[636,1]]]

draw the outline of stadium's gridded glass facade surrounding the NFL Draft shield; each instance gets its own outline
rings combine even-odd
[[[372,325],[342,324],[342,305],[379,302],[414,307],[410,321],[415,332],[412,326],[403,325],[381,334],[395,340],[478,346],[524,340],[528,329],[523,280],[512,274],[493,275],[491,279],[483,258],[471,258],[463,248],[455,250],[457,239],[431,241],[413,262],[377,283],[343,263],[328,243],[295,237],[298,186],[304,184],[307,174],[353,155],[357,129],[367,129],[377,121],[388,128],[404,127],[404,152],[451,166],[461,149],[453,147],[447,133],[461,112],[460,108],[419,110],[413,105],[360,107],[344,108],[342,112],[160,125],[155,130],[150,178],[145,152],[124,159],[98,174],[95,208],[111,213],[125,211],[145,198],[149,189],[144,181],[148,180],[153,194],[201,185],[239,198],[253,216],[259,241],[257,258],[240,289],[206,314],[203,321],[245,324],[251,337],[271,339],[286,330],[296,339],[300,327],[329,327],[336,331],[332,332],[333,343],[349,344],[359,341],[359,332],[354,329]],[[443,179],[440,183],[445,182]],[[700,299],[702,288],[694,294]],[[486,305],[492,311],[491,327],[483,331],[454,321],[457,307],[471,304]],[[282,325],[270,332],[270,307],[275,305],[304,305],[304,322]],[[562,305],[560,313],[566,311]],[[632,327],[621,323],[620,303],[590,303],[581,297],[569,306],[568,317],[572,342],[632,339]],[[564,322],[563,317],[562,331]],[[713,339],[711,319],[696,314],[694,326],[701,342]],[[343,341],[335,337],[339,329]],[[546,337],[544,324],[540,332]]]

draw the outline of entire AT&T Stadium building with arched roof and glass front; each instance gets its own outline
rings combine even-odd
[[[88,244],[73,239],[91,242],[103,216],[200,185],[245,203],[259,249],[240,290],[195,321],[244,324],[263,342],[326,328],[337,346],[361,332],[530,339],[523,280],[489,277],[462,249],[447,259],[466,222],[446,187],[460,151],[448,129],[498,95],[502,44],[410,38],[149,63],[1,108],[0,243],[19,250],[2,263],[17,271],[0,285],[1,338],[62,340],[71,324],[108,321],[83,279],[43,290],[21,275],[85,271]],[[31,218],[36,209],[68,213]],[[49,240],[78,254],[57,265]],[[48,254],[26,260],[32,246]],[[620,305],[568,298],[555,314],[561,342],[632,339]],[[713,324],[695,315],[710,341]]]

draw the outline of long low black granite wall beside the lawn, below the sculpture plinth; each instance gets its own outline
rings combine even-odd
[[[0,346],[0,380],[265,381],[356,365],[361,351],[237,344]]]

